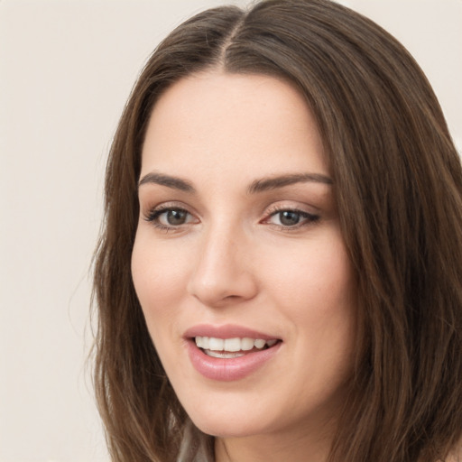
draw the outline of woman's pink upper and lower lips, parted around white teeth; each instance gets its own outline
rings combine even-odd
[[[261,351],[253,351],[245,354],[245,356],[225,359],[206,355],[196,346],[194,337],[197,336],[217,338],[250,337],[263,338],[263,340],[271,340],[274,337],[234,325],[220,327],[201,325],[189,328],[185,332],[184,337],[187,340],[191,364],[204,377],[223,382],[240,380],[247,375],[253,374],[257,369],[270,361],[282,345],[282,342],[278,342],[273,347]]]

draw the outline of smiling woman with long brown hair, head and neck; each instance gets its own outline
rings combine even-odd
[[[106,171],[96,388],[114,460],[457,460],[462,174],[438,101],[326,0],[198,14]]]

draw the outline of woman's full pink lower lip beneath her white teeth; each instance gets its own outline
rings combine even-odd
[[[262,351],[247,353],[233,358],[212,357],[206,355],[194,340],[188,341],[189,359],[199,374],[211,380],[231,382],[253,374],[257,369],[270,361],[278,352],[282,342]]]

